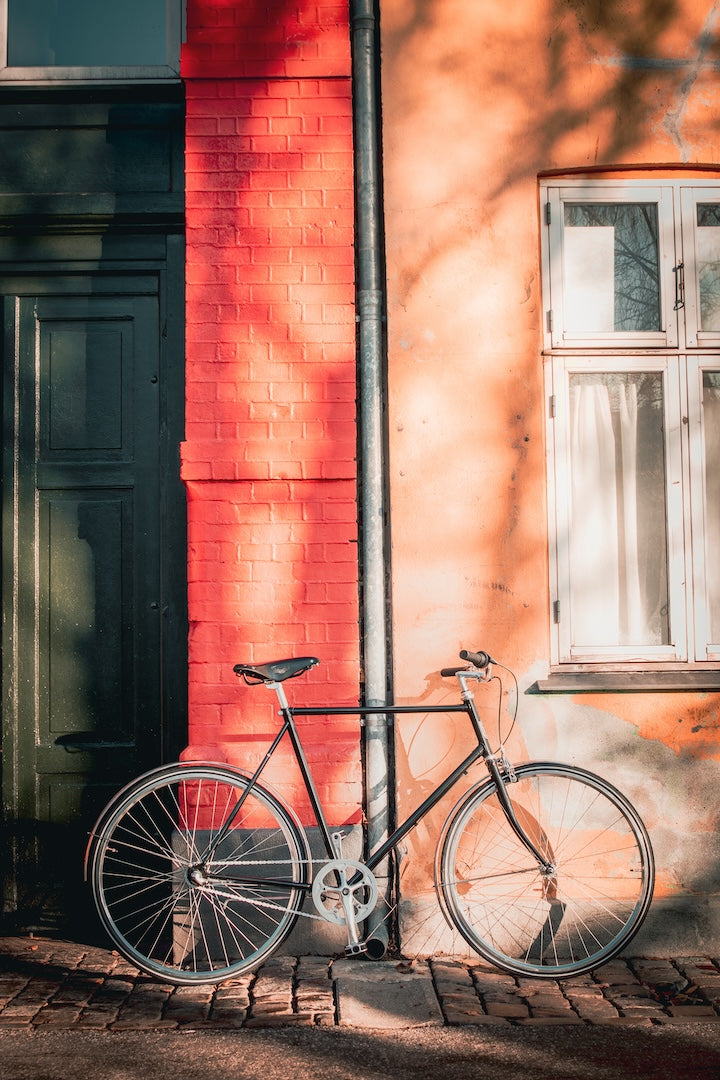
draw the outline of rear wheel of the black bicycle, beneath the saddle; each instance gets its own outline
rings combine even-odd
[[[166,766],[100,815],[89,864],[97,910],[118,951],[147,974],[219,983],[257,968],[295,926],[310,877],[307,837],[274,795],[247,788],[222,766]]]

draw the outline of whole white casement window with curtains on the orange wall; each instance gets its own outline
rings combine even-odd
[[[541,200],[554,669],[720,670],[720,178]]]

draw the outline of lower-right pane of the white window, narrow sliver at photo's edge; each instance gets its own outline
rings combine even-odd
[[[710,640],[720,643],[720,372],[703,375],[705,434],[705,575]]]

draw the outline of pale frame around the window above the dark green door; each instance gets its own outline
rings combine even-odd
[[[101,3],[104,0],[97,0],[97,2]],[[165,0],[165,8],[167,18],[165,64],[128,67],[9,67],[8,0],[0,0],[0,82],[43,84],[94,81],[177,81],[180,77],[180,43],[185,33],[185,0]]]

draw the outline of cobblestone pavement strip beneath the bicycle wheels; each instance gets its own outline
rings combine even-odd
[[[366,988],[373,980],[390,980],[395,988],[399,982],[398,999],[404,977],[426,978],[437,999],[436,1022],[446,1026],[720,1022],[717,958],[620,959],[592,975],[561,982],[514,978],[480,962],[362,962],[363,974],[355,968],[355,980],[361,977]],[[343,964],[347,961],[332,957],[279,956],[254,974],[219,986],[174,987],[141,974],[107,949],[4,937],[0,1029],[352,1025],[339,1000],[339,987],[348,985],[339,974]]]

